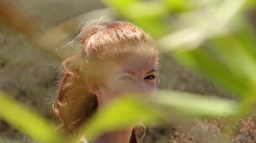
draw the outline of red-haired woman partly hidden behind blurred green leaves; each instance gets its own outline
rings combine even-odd
[[[86,124],[98,108],[123,93],[136,92],[144,98],[156,93],[158,52],[152,38],[129,22],[96,23],[82,27],[75,38],[80,50],[62,62],[53,110],[68,136]],[[90,141],[137,143],[138,131],[135,126]]]

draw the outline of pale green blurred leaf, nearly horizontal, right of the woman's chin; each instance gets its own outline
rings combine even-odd
[[[159,90],[153,103],[168,107],[165,109],[169,117],[172,109],[176,115],[185,116],[230,116],[238,113],[239,104],[235,101],[214,96],[197,95],[170,90]]]

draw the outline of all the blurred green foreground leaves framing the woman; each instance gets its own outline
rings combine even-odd
[[[236,93],[238,101],[202,98],[199,95],[174,91],[159,91],[154,101],[123,95],[96,114],[70,140],[54,131],[54,126],[24,105],[0,93],[0,118],[19,131],[40,142],[77,142],[83,135],[93,140],[98,135],[125,128],[144,119],[147,125],[162,122],[185,122],[192,117],[237,116],[248,110],[256,99],[256,49],[252,27],[244,11],[254,5],[251,1],[116,1],[104,0],[120,16],[136,23],[151,33],[161,52],[186,66],[196,69],[228,90]],[[48,50],[58,59],[66,55],[54,52],[49,34],[39,36],[35,25],[12,16],[5,9],[7,1],[0,2],[0,18],[20,33],[30,37],[39,48]],[[19,13],[26,13],[11,5]],[[72,23],[72,22],[71,22]],[[36,26],[34,26],[36,27]],[[61,31],[61,26],[58,27]],[[34,38],[36,35],[37,39]],[[61,35],[58,35],[61,36]],[[52,48],[52,49],[51,49]],[[171,51],[171,52],[170,52]],[[121,115],[121,116],[120,116]],[[112,117],[112,118],[109,118]]]

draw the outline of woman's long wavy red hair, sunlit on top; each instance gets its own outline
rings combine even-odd
[[[150,35],[129,22],[94,20],[83,24],[80,29],[73,40],[79,43],[80,49],[61,63],[63,72],[53,98],[53,111],[61,120],[59,128],[68,137],[86,123],[98,107],[96,95],[90,92],[85,80],[87,76],[93,76],[93,61],[136,52],[141,50],[138,44],[155,47]],[[157,54],[155,48],[146,50],[154,50]],[[135,126],[130,142],[137,143],[144,135],[145,127]]]

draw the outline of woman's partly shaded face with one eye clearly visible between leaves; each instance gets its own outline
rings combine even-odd
[[[130,54],[104,62],[103,84],[97,88],[99,106],[124,93],[154,98],[156,93],[156,55]]]

